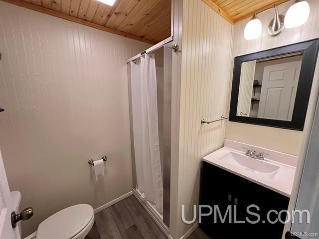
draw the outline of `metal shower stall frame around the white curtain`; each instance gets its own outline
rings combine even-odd
[[[153,51],[163,47],[164,49],[164,119],[163,119],[163,218],[159,217],[154,208],[147,202],[140,199],[140,193],[137,188],[136,166],[135,166],[135,148],[134,148],[134,133],[133,133],[133,112],[132,112],[132,79],[131,79],[131,65],[128,67],[128,87],[129,87],[129,111],[130,111],[130,133],[131,133],[131,157],[132,157],[132,176],[133,176],[133,193],[140,201],[140,203],[146,208],[151,216],[158,222],[161,229],[168,236],[169,234],[169,213],[170,213],[170,125],[171,125],[171,55],[172,50],[168,47],[172,46],[173,37],[170,36],[160,43],[150,47],[142,53],[127,60],[127,63],[134,61],[141,56],[152,53]],[[165,52],[166,57],[165,58]],[[170,52],[170,54],[169,54]],[[165,62],[166,60],[166,62]],[[167,60],[170,62],[167,62]]]

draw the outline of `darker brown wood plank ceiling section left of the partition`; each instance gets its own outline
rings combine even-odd
[[[170,36],[171,0],[4,0],[118,35],[155,44]]]

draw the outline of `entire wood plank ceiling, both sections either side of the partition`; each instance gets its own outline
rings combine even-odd
[[[3,0],[156,44],[170,36],[171,0],[116,0],[113,6],[97,0]],[[288,0],[202,0],[234,24]]]

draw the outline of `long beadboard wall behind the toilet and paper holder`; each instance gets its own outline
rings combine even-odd
[[[0,1],[0,148],[34,216],[132,190],[126,60],[150,45]],[[107,155],[95,183],[89,159]]]

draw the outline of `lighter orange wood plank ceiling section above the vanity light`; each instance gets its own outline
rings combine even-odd
[[[214,11],[234,24],[289,0],[203,0]]]

